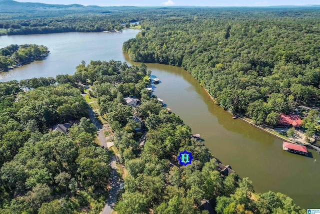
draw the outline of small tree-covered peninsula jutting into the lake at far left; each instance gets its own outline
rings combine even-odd
[[[0,49],[0,71],[41,60],[48,53],[48,48],[43,45],[9,45]]]

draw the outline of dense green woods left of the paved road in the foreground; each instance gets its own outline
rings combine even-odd
[[[104,206],[109,154],[92,143],[87,108],[77,88],[54,78],[0,83],[0,213],[96,213]],[[49,131],[70,121],[67,135]]]

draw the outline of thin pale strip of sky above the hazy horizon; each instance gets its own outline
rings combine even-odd
[[[45,4],[80,4],[97,6],[280,6],[280,5],[320,5],[320,0],[15,0],[17,2],[37,2]]]

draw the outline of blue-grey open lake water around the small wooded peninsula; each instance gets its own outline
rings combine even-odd
[[[119,33],[61,33],[45,35],[0,36],[0,48],[10,44],[37,44],[49,48],[50,55],[44,61],[35,61],[6,73],[0,73],[0,82],[29,79],[31,77],[55,77],[57,74],[73,74],[75,66],[84,60],[124,60],[122,44],[134,38],[137,30]]]

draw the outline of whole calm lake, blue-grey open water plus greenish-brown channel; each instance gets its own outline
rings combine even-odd
[[[137,31],[122,34],[62,33],[0,37],[0,48],[9,44],[36,43],[49,48],[51,54],[42,62],[22,66],[5,74],[0,81],[72,74],[81,60],[120,60],[122,43]],[[155,95],[178,114],[193,133],[204,138],[204,144],[224,164],[230,164],[239,176],[249,177],[257,192],[272,190],[292,197],[303,208],[320,207],[320,156],[313,158],[282,151],[282,141],[234,120],[210,101],[202,87],[186,71],[173,66],[146,64],[162,83]],[[317,159],[314,162],[314,159]]]

